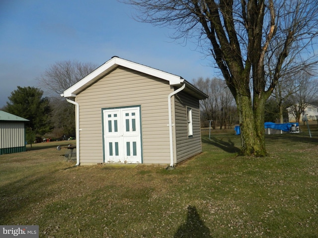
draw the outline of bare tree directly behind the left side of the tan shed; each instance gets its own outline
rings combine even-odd
[[[75,108],[60,95],[73,84],[92,72],[97,65],[76,60],[56,62],[37,78],[40,85],[51,96],[51,120],[54,135],[75,134]]]

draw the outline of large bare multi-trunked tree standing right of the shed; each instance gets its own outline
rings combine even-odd
[[[139,20],[173,27],[174,38],[197,37],[200,46],[210,49],[237,103],[241,154],[265,156],[265,102],[279,81],[286,60],[297,61],[288,58],[291,49],[304,63],[313,56],[318,4],[312,0],[126,2],[139,10]],[[268,69],[273,72],[272,78],[266,77],[265,59],[271,58],[266,57],[268,54],[278,56],[274,64],[269,64],[273,65]]]

